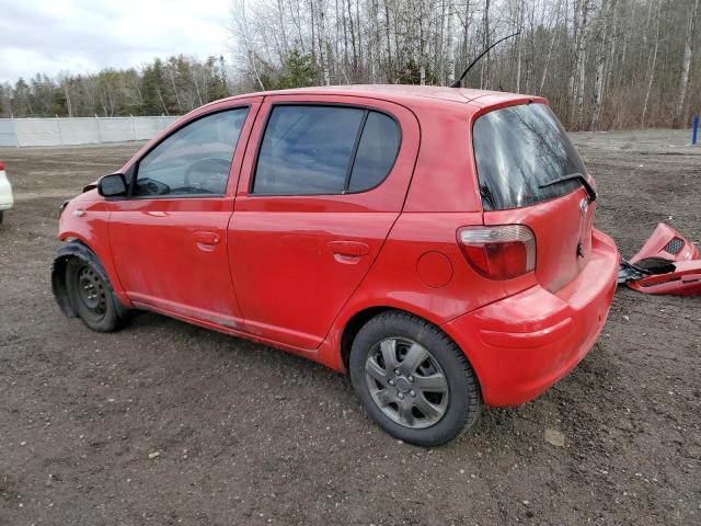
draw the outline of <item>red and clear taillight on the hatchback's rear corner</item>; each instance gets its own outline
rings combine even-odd
[[[536,238],[525,225],[463,227],[458,243],[470,264],[490,279],[509,279],[536,270]]]

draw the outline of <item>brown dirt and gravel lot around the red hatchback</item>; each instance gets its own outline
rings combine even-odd
[[[574,136],[624,255],[658,221],[701,241],[687,135]],[[59,312],[57,207],[138,146],[0,150],[0,525],[701,524],[701,298],[620,289],[572,375],[413,447],[311,362],[158,315],[97,334]]]

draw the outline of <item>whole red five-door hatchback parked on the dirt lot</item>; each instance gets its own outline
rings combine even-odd
[[[543,99],[234,96],[64,206],[54,294],[97,331],[146,309],[349,371],[380,426],[434,446],[594,345],[619,254],[593,184]]]

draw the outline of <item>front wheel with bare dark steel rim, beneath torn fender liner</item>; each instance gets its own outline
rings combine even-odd
[[[127,320],[129,310],[117,299],[100,260],[73,256],[66,264],[66,291],[80,319],[93,331],[112,332]]]

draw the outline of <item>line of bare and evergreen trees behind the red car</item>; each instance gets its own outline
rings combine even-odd
[[[0,116],[173,115],[317,84],[542,95],[568,129],[686,126],[701,111],[700,0],[233,0],[233,61],[154,59],[0,85]]]

